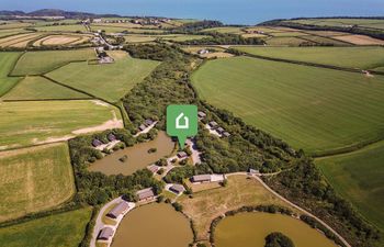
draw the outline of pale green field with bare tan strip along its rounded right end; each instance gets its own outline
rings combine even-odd
[[[0,103],[0,150],[122,127],[117,109],[99,101]]]

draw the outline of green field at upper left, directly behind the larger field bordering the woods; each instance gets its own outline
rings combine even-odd
[[[95,59],[93,49],[27,52],[14,67],[13,76],[42,75],[70,61]]]

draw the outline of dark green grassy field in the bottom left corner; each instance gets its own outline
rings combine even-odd
[[[7,247],[78,247],[91,213],[88,207],[3,227],[0,243]]]

